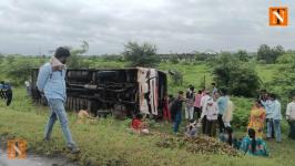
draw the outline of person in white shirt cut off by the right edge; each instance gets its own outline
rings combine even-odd
[[[295,94],[293,95],[293,102],[287,105],[286,120],[289,125],[288,137],[295,139]]]

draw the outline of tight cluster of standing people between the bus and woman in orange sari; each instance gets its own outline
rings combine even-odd
[[[190,85],[187,92],[180,91],[177,96],[170,96],[170,113],[174,125],[174,133],[179,132],[182,122],[182,106],[184,105],[185,120],[202,124],[202,133],[207,136],[216,136],[218,126],[220,133],[231,127],[234,105],[227,95],[226,90],[217,90],[213,83],[212,92],[200,90],[195,93],[194,86]]]

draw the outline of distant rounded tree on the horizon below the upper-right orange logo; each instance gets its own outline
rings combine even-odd
[[[266,63],[275,63],[279,55],[284,54],[284,48],[276,45],[273,49],[266,44],[262,44],[257,51],[257,60],[264,60]]]

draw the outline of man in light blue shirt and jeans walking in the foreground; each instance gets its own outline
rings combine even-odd
[[[64,80],[65,62],[69,56],[70,51],[67,48],[58,48],[50,62],[40,68],[37,86],[38,90],[45,95],[51,110],[45,126],[44,141],[50,141],[53,125],[55,121],[59,120],[68,148],[71,153],[79,153],[80,149],[72,139],[64,110],[64,103],[67,101]]]

